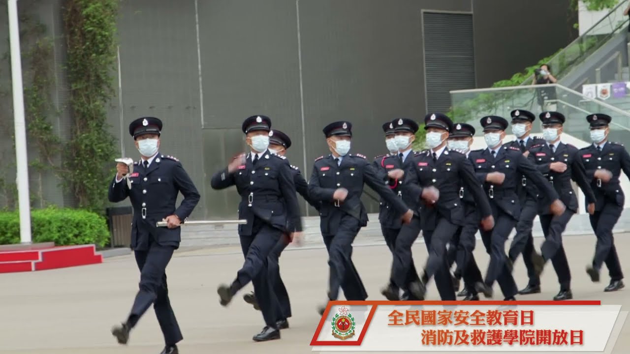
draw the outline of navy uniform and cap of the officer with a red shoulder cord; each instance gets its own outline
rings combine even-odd
[[[393,120],[390,127],[394,127],[396,133],[412,133],[418,132],[418,123],[411,119],[400,118]],[[385,173],[389,173],[393,169],[406,170],[413,168],[413,156],[415,152],[411,147],[406,151],[399,152],[396,156],[389,156],[381,160],[381,168]],[[409,224],[403,224],[400,217],[393,213],[393,208],[387,206],[387,218],[381,220],[381,227],[386,239],[390,240],[390,249],[392,251],[392,266],[390,272],[390,283],[381,290],[388,300],[401,300],[398,289],[402,288],[405,292],[403,299],[420,300],[415,295],[408,292],[409,285],[419,282],[418,271],[413,261],[411,246],[415,243],[420,235],[420,198],[417,195],[404,193],[403,184],[404,176],[399,180],[388,179],[389,188],[401,198],[405,205],[414,211],[413,219]]]

